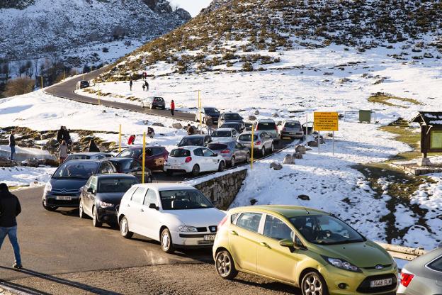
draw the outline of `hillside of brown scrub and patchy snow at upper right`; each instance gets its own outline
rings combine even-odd
[[[215,0],[185,26],[147,43],[105,75],[165,62],[172,72],[246,71],[285,67],[285,52],[343,45],[385,49],[404,62],[441,58],[441,1]]]

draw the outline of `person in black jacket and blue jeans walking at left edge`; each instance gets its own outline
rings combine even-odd
[[[6,235],[11,241],[16,263],[13,268],[21,269],[20,247],[17,240],[17,221],[16,217],[21,213],[20,201],[9,192],[8,186],[0,184],[0,250]]]

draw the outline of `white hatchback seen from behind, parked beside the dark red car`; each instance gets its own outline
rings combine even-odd
[[[186,146],[172,150],[164,162],[164,172],[192,173],[198,176],[200,172],[223,171],[225,160],[207,147]]]

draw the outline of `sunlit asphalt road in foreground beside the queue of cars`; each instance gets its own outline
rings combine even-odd
[[[116,228],[94,228],[90,219],[78,217],[78,209],[45,211],[42,191],[15,193],[23,208],[18,240],[25,268],[10,268],[13,251],[6,240],[0,293],[6,286],[24,294],[298,294],[249,274],[233,282],[220,279],[210,250],[168,255],[159,243],[140,235],[127,240]]]

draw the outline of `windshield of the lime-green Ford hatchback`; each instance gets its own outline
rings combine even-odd
[[[365,241],[365,238],[356,230],[333,216],[297,216],[289,220],[310,243],[336,245]]]

